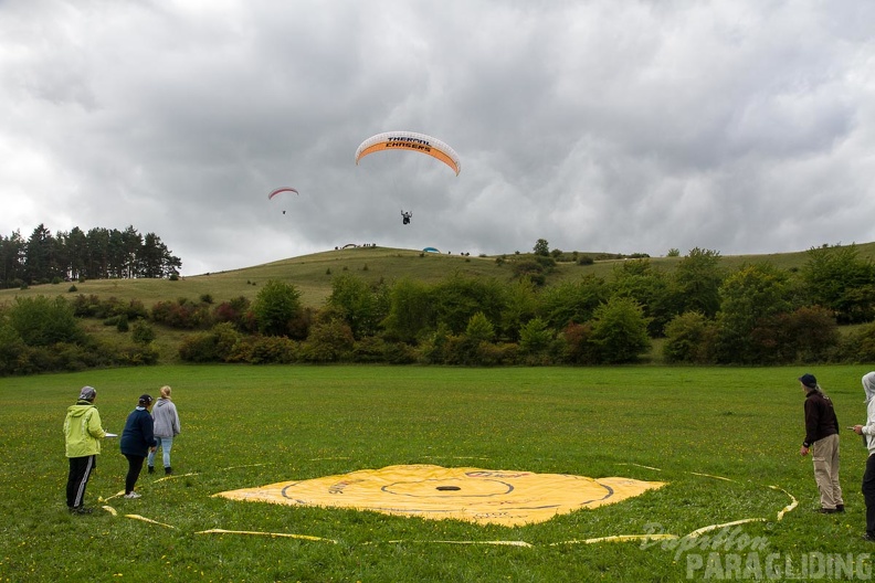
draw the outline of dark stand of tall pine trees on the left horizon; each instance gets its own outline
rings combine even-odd
[[[25,240],[19,231],[0,235],[0,286],[22,287],[63,280],[169,277],[182,262],[155,233],[74,226],[54,234],[40,224]]]

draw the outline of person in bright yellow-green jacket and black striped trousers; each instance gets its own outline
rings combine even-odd
[[[101,454],[101,439],[106,437],[106,430],[101,423],[101,413],[94,406],[97,391],[93,386],[83,386],[78,401],[67,409],[64,420],[64,444],[70,459],[67,475],[67,508],[74,515],[89,515],[91,508],[85,507],[85,487],[88,478],[97,466]]]

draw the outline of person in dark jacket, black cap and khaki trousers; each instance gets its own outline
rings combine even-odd
[[[805,392],[805,439],[799,453],[811,453],[814,481],[820,490],[824,515],[844,512],[842,487],[839,485],[839,418],[829,396],[823,394],[813,374],[799,378]]]

